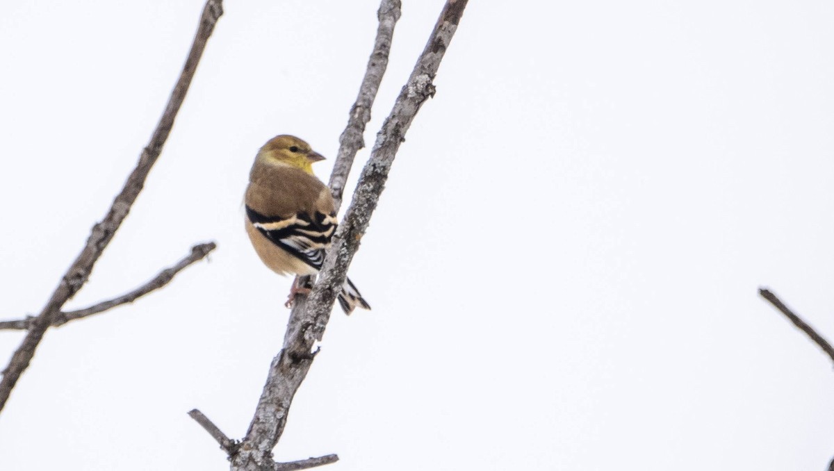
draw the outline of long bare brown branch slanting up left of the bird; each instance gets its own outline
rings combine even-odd
[[[188,52],[188,58],[185,60],[183,72],[173,88],[171,98],[168,99],[168,105],[165,107],[162,118],[159,119],[157,128],[153,131],[148,146],[143,149],[139,157],[136,168],[133,168],[133,172],[128,177],[127,182],[124,183],[122,191],[113,200],[107,216],[104,217],[102,222],[93,226],[87,243],[81,253],[78,254],[78,258],[69,267],[67,273],[63,275],[60,283],[58,283],[58,288],[55,289],[52,297],[43,307],[43,311],[33,320],[26,337],[23,338],[23,343],[14,352],[8,367],[3,370],[3,380],[0,380],[0,410],[3,410],[6,405],[9,394],[12,393],[15,384],[18,383],[21,373],[28,368],[29,362],[32,361],[35,349],[38,348],[38,343],[43,338],[43,333],[52,325],[55,316],[61,312],[64,303],[67,303],[69,298],[78,293],[78,290],[87,282],[90,273],[93,271],[93,266],[98,261],[104,248],[107,248],[108,243],[113,239],[113,234],[116,233],[124,218],[128,216],[130,207],[133,206],[133,202],[136,201],[136,197],[142,191],[145,179],[148,178],[153,163],[156,162],[165,141],[168,139],[168,134],[171,133],[174,118],[176,118],[177,112],[183,104],[185,94],[188,92],[188,85],[190,85],[197,69],[208,37],[214,31],[214,25],[221,14],[223,14],[222,0],[208,0],[206,2],[200,16],[197,34],[194,37],[191,50]]]

